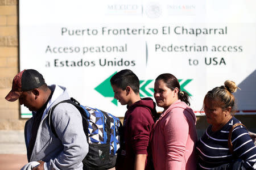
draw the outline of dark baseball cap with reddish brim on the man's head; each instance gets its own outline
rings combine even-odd
[[[5,97],[8,101],[19,99],[22,91],[29,91],[38,88],[45,83],[43,75],[33,69],[20,71],[13,79],[13,87]]]

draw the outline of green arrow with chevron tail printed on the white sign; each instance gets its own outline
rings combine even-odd
[[[115,72],[117,73],[117,71]],[[117,99],[114,99],[114,92],[112,90],[110,79],[115,74],[113,73],[108,78],[106,78],[102,83],[100,83],[94,90],[99,92],[104,97],[112,97],[112,103],[114,105],[118,105]],[[180,83],[180,90],[185,91],[189,94],[189,96],[192,96],[187,90],[185,90],[185,86],[187,86],[188,83],[192,81],[192,79],[178,79]],[[148,80],[139,80],[140,86],[139,86],[139,95],[141,97],[153,97],[154,96],[154,79],[148,79]]]

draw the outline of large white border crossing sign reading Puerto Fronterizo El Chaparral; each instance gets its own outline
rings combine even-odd
[[[241,114],[256,112],[255,1],[20,1],[20,70],[68,88],[82,105],[123,117],[109,79],[130,69],[142,97],[174,74],[197,113],[230,79]],[[248,102],[249,101],[249,102]],[[157,108],[162,111],[162,108]],[[21,117],[31,117],[21,108]]]

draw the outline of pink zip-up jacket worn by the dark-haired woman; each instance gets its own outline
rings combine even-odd
[[[177,100],[156,121],[152,136],[155,170],[196,169],[196,116]]]

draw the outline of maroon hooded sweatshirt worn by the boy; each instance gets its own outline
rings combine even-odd
[[[127,107],[123,120],[123,147],[116,169],[134,169],[135,155],[147,154],[145,169],[153,169],[150,154],[151,133],[154,127],[155,103],[144,98]],[[121,166],[120,166],[121,165]]]

